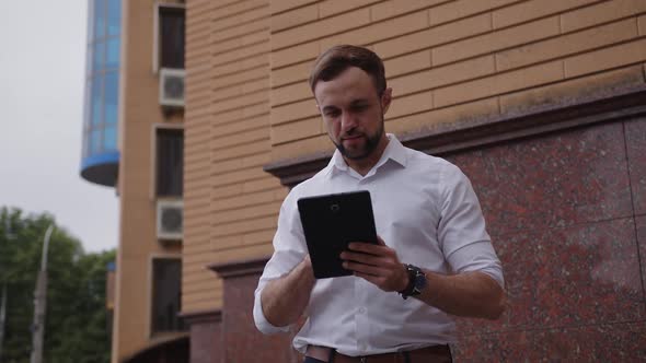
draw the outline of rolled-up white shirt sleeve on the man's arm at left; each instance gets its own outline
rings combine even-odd
[[[292,190],[293,192],[293,190]],[[254,293],[253,317],[256,328],[263,333],[285,332],[289,326],[276,327],[272,325],[263,312],[261,296],[267,283],[291,271],[307,255],[304,235],[300,223],[300,215],[296,207],[295,197],[290,192],[280,207],[278,227],[274,235],[274,254],[265,265],[265,269]]]

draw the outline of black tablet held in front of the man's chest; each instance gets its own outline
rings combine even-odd
[[[350,242],[377,244],[367,190],[301,198],[298,211],[316,279],[351,274],[339,257]]]

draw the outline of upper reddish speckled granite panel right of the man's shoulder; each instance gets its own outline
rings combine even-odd
[[[492,236],[628,216],[621,124],[448,155],[471,179]]]

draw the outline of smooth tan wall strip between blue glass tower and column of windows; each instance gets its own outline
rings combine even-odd
[[[159,105],[159,74],[152,69],[151,57],[153,10],[152,0],[123,2],[113,362],[169,338],[151,333],[152,258],[181,256],[180,246],[163,245],[155,234],[153,130],[162,124],[181,126],[182,115],[164,115]]]

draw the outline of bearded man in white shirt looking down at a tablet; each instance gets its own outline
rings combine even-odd
[[[328,49],[310,86],[337,150],[282,203],[255,292],[257,328],[287,331],[307,316],[293,340],[304,362],[450,362],[450,315],[495,319],[505,306],[500,262],[470,182],[384,133],[392,90],[372,51]],[[351,243],[341,257],[354,276],[316,280],[297,200],[353,190],[371,194],[379,245]]]

